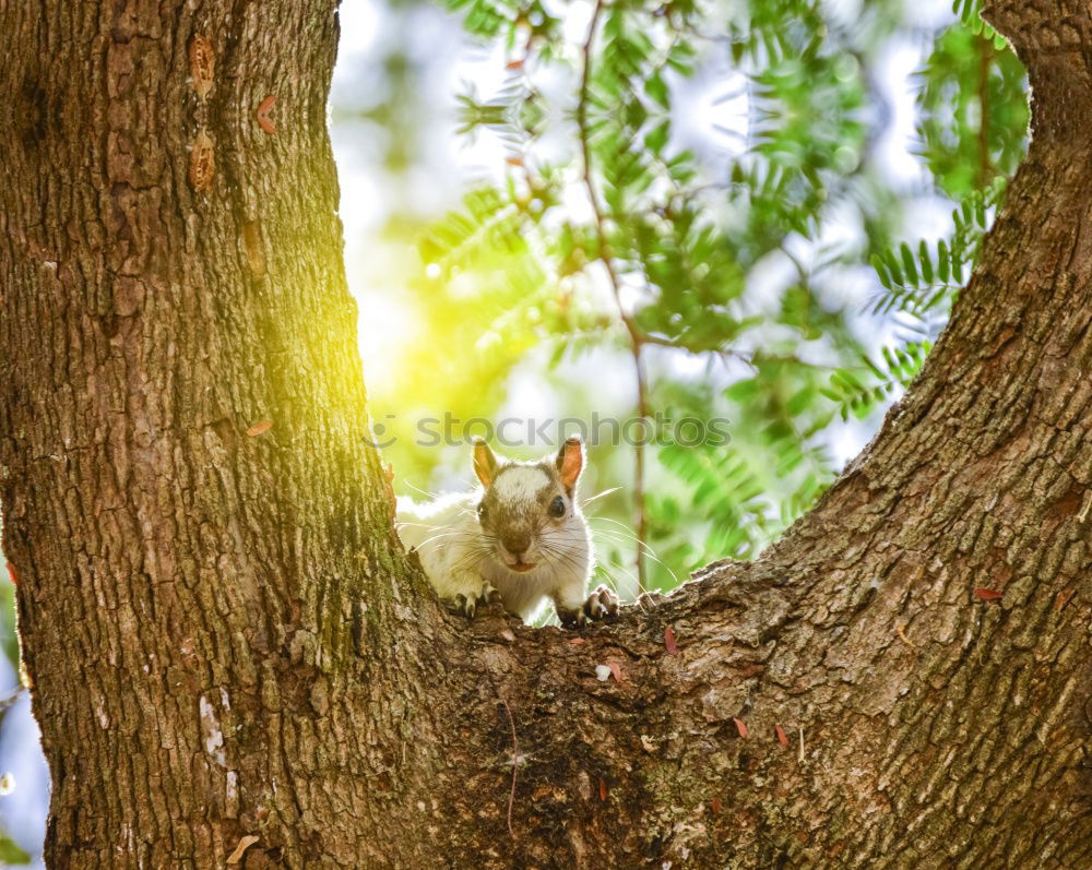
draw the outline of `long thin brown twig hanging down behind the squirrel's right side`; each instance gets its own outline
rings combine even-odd
[[[637,329],[637,324],[626,313],[626,308],[621,300],[621,282],[615,271],[614,261],[610,257],[610,249],[607,242],[606,218],[603,215],[603,207],[600,205],[600,196],[595,190],[595,182],[592,179],[592,153],[587,144],[587,100],[589,84],[592,78],[592,48],[595,45],[595,34],[600,28],[600,15],[605,7],[604,0],[596,0],[595,10],[592,12],[591,23],[587,25],[587,38],[584,39],[583,59],[584,69],[580,79],[580,102],[577,104],[577,126],[580,130],[580,151],[584,163],[584,187],[587,188],[587,199],[591,201],[592,212],[595,215],[595,228],[600,240],[600,260],[606,266],[607,276],[610,278],[610,289],[614,294],[615,305],[618,307],[618,317],[629,333],[630,354],[633,358],[633,374],[637,381],[637,414],[641,420],[649,417],[649,395],[648,383],[644,377],[644,367],[641,361],[641,348],[644,338]],[[645,587],[644,575],[644,552],[642,547],[646,535],[646,520],[644,515],[644,441],[638,440],[633,445],[633,505],[637,510],[637,581],[641,588]]]

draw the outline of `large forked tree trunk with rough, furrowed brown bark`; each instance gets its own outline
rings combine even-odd
[[[987,9],[1031,151],[874,443],[761,559],[582,643],[442,612],[396,544],[333,5],[0,10],[0,497],[51,866],[245,835],[247,868],[1092,866],[1085,5]]]

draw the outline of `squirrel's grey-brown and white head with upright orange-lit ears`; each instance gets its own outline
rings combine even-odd
[[[501,460],[475,440],[474,470],[485,487],[477,516],[499,564],[526,573],[563,561],[585,539],[575,502],[583,466],[579,438],[568,439],[553,461],[541,462]]]

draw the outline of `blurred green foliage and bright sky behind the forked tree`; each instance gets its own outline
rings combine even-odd
[[[921,368],[1025,147],[1019,61],[945,2],[344,0],[346,265],[399,491],[471,485],[446,415],[520,421],[521,458],[559,436],[527,421],[582,424],[629,598],[806,511]],[[604,422],[642,416],[643,448]],[[0,865],[40,860],[47,800],[11,588]]]

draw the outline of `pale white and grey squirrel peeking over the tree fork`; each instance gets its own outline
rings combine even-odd
[[[538,462],[498,457],[476,438],[482,487],[424,504],[400,498],[399,536],[416,550],[440,598],[467,617],[498,598],[525,622],[546,598],[567,628],[615,616],[612,589],[601,585],[587,594],[591,534],[577,502],[583,467],[577,437]]]

